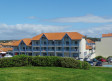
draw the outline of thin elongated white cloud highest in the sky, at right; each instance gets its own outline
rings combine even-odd
[[[56,19],[48,19],[46,21],[50,22],[60,22],[60,23],[109,23],[112,22],[112,18],[100,17],[95,15],[85,15],[79,17],[64,17]]]

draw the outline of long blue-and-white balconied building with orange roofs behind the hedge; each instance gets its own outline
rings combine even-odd
[[[86,49],[87,48],[87,49]],[[42,33],[33,38],[25,38],[13,44],[13,54],[29,56],[62,56],[85,58],[92,50],[86,46],[85,36],[77,32]]]

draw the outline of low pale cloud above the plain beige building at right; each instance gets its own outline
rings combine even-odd
[[[102,34],[112,33],[112,24],[91,27],[82,30],[68,30],[68,32],[69,31],[76,31],[83,35],[87,35],[88,37],[102,37]]]

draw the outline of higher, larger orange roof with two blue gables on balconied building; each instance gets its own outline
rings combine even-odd
[[[65,34],[68,34],[68,36],[72,40],[80,40],[82,39],[82,37],[84,37],[77,32],[42,33],[33,37],[32,40],[39,40],[43,34],[47,37],[48,40],[61,40],[65,36]]]

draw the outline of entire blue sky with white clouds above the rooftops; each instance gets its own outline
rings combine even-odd
[[[112,33],[112,0],[0,0],[0,40],[40,33]]]

